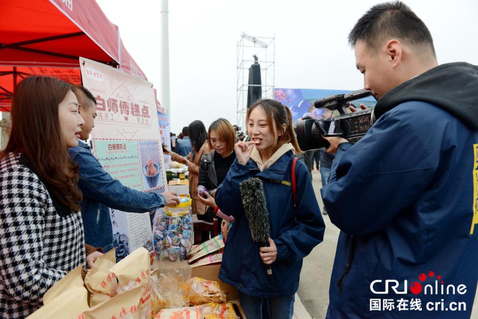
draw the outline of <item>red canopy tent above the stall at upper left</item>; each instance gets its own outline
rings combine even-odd
[[[28,75],[80,84],[80,56],[146,79],[95,0],[2,1],[0,111],[10,111],[13,89]]]

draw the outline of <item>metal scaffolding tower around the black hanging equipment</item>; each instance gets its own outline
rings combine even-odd
[[[247,90],[249,88],[249,67],[254,63],[253,56],[259,58],[262,98],[274,98],[276,80],[276,42],[272,38],[252,37],[241,33],[237,46],[237,125],[244,127],[247,113]],[[259,85],[255,85],[259,86]],[[245,130],[245,128],[244,128]]]

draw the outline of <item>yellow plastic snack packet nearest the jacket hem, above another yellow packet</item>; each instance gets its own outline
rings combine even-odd
[[[226,302],[226,294],[221,290],[217,281],[193,277],[187,283],[188,299],[191,304]]]

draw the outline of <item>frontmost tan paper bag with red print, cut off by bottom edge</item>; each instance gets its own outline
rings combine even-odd
[[[97,304],[83,313],[84,319],[141,319],[141,290],[142,287],[134,288]]]

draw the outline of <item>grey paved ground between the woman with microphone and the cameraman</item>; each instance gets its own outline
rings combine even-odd
[[[317,200],[322,207],[322,198],[320,197],[320,173],[313,172],[313,185]],[[296,302],[295,318],[314,319],[325,318],[327,305],[329,303],[329,283],[332,265],[334,263],[335,250],[339,237],[339,229],[330,222],[327,215],[323,216],[325,221],[324,241],[319,244],[312,253],[304,259],[302,272],[299,282],[299,299],[301,303]],[[305,306],[308,314],[304,313]],[[471,318],[478,319],[478,298],[475,298]],[[309,317],[310,314],[310,317]]]

